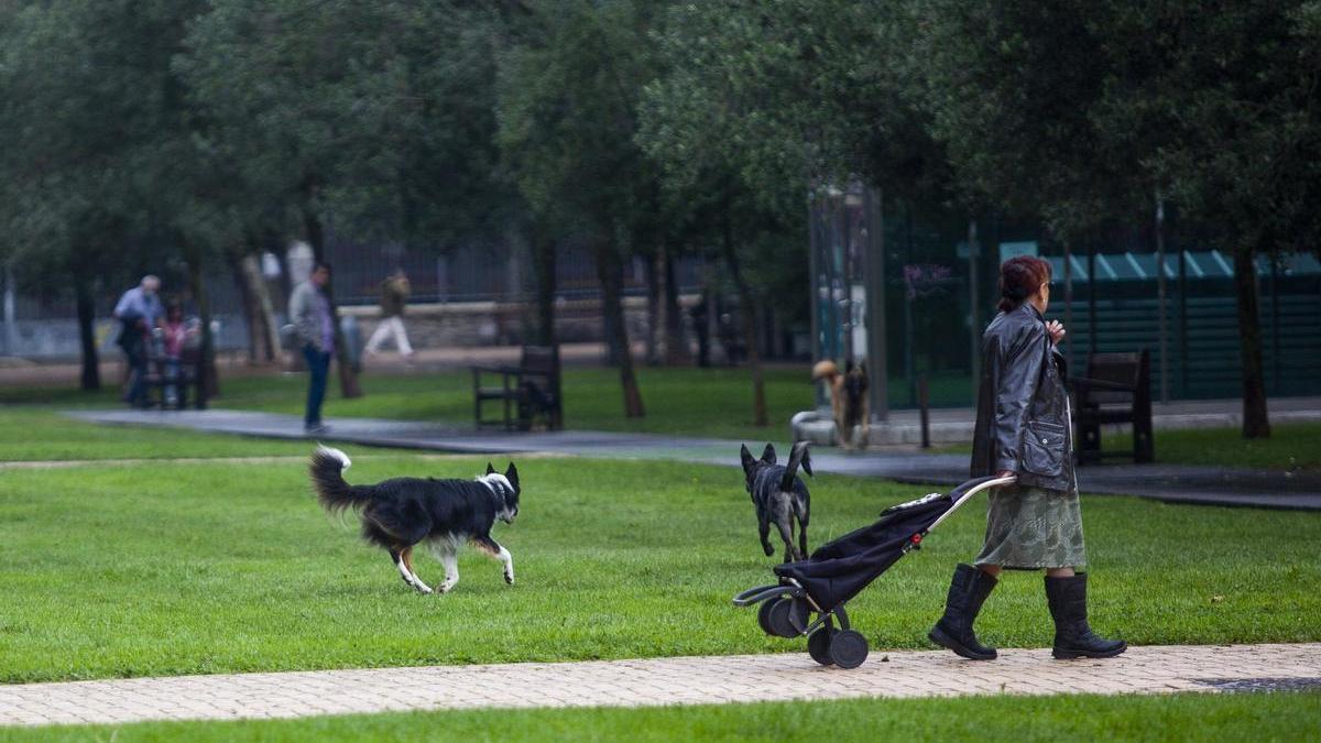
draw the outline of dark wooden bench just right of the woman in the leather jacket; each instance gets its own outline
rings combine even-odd
[[[1156,457],[1152,443],[1152,373],[1145,349],[1137,353],[1092,353],[1087,375],[1070,379],[1078,463],[1103,456],[1127,456],[1100,451],[1100,427],[1127,423],[1133,427],[1133,461]]]

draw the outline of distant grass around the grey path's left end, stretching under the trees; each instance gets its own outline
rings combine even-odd
[[[567,426],[597,431],[637,431],[764,442],[783,438],[789,418],[812,405],[807,369],[766,370],[766,405],[771,426],[752,426],[752,386],[744,369],[639,369],[647,415],[624,416],[618,373],[613,369],[567,369]],[[272,374],[223,381],[215,407],[303,415],[306,377]],[[365,375],[366,395],[339,397],[332,379],[326,416],[394,418],[472,424],[473,389],[468,372]],[[214,438],[181,430],[87,427],[59,410],[119,407],[116,393],[79,393],[57,387],[0,390],[0,461],[16,459],[123,459],[172,456],[242,456],[304,452],[300,443]],[[495,416],[494,405],[487,416]]]

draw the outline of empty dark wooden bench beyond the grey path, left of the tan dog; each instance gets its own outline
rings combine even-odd
[[[505,426],[507,431],[530,431],[538,418],[547,430],[564,426],[560,401],[559,346],[523,346],[518,366],[473,366],[473,414],[477,426]],[[499,385],[482,385],[482,374],[499,375]],[[490,377],[487,377],[490,379]],[[482,403],[502,402],[502,419],[482,418]]]

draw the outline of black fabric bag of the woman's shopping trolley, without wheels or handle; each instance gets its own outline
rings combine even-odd
[[[798,580],[822,611],[831,611],[904,557],[904,545],[950,510],[959,490],[968,485],[886,510],[876,524],[822,545],[811,558],[777,566],[775,575]]]

